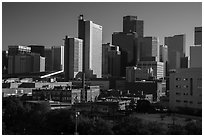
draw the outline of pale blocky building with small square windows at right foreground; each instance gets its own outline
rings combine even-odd
[[[202,109],[202,68],[177,69],[170,74],[171,110]]]

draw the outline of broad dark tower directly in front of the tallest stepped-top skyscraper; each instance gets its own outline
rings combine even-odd
[[[136,32],[114,32],[112,44],[118,45],[121,51],[121,76],[125,76],[127,66],[135,66],[140,60],[140,45]]]

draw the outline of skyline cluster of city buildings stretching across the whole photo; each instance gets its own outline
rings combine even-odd
[[[77,38],[65,36],[60,47],[9,46],[2,53],[2,71],[4,76],[11,77],[31,72],[39,73],[40,78],[61,74],[61,81],[78,85],[80,100],[87,96],[89,83],[100,86],[101,90],[116,89],[134,97],[145,96],[150,102],[169,95],[172,110],[201,109],[201,45],[202,27],[195,28],[190,58],[186,55],[185,34],[165,37],[160,45],[158,37],[144,36],[144,21],[137,16],[124,16],[123,31],[113,32],[112,44],[102,44],[102,26],[80,15]],[[61,91],[59,94],[65,94],[64,89]],[[33,96],[41,95],[39,92],[44,94],[47,90],[34,89]],[[66,99],[73,99],[70,93],[67,95]],[[60,96],[54,98],[59,100]]]

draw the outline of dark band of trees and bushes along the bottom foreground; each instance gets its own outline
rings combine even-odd
[[[135,109],[132,101],[130,109]],[[141,106],[151,109],[148,102]],[[140,106],[140,107],[141,107]],[[148,112],[141,110],[137,111]],[[48,104],[31,106],[15,97],[3,98],[2,134],[6,135],[73,135],[75,134],[75,113],[67,110],[50,110]],[[80,114],[77,119],[77,132],[80,135],[201,135],[201,123],[187,121],[185,126],[165,125],[138,119],[135,115],[121,119],[105,120],[100,117],[85,117]]]

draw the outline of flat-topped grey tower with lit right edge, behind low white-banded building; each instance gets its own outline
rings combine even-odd
[[[141,59],[145,57],[155,57],[159,61],[159,39],[157,37],[144,37],[141,46]]]

